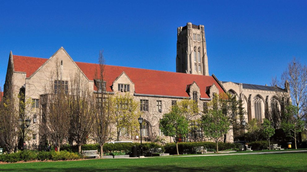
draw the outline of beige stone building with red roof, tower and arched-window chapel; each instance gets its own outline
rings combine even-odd
[[[13,55],[11,52],[7,71],[12,71],[13,75],[6,77],[4,94],[7,84],[13,81],[15,94],[23,93],[25,99],[32,99],[34,102],[29,115],[32,120],[32,140],[28,143],[37,145],[39,142],[40,131],[36,119],[40,111],[40,97],[45,93],[46,84],[50,83],[50,73],[55,68],[56,60],[60,61],[62,80],[68,93],[70,74],[80,71],[93,92],[131,94],[140,102],[140,111],[146,121],[142,129],[145,138],[150,134],[164,137],[159,130],[159,119],[170,111],[172,105],[183,99],[197,101],[201,113],[214,93],[231,92],[243,100],[243,106],[248,112],[245,118],[257,118],[260,121],[266,117],[266,111],[272,103],[280,102],[273,87],[221,82],[214,74],[209,76],[203,25],[187,23],[187,26],[178,28],[177,38],[176,72],[105,65],[105,84],[100,88],[102,90],[97,90],[99,88],[95,85],[99,81],[95,78],[95,71],[99,70],[98,64],[75,62],[63,47],[49,59]],[[121,139],[130,138],[129,134],[122,133]],[[232,131],[228,133],[227,141],[233,141]]]

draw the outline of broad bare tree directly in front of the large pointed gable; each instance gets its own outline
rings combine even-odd
[[[50,73],[50,83],[47,84],[45,94],[41,95],[40,130],[43,139],[51,140],[60,151],[70,127],[70,98],[68,81],[62,79],[58,59],[55,61],[55,70]]]

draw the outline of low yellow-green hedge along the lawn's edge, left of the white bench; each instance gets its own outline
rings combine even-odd
[[[39,161],[45,161],[45,160],[75,160],[82,158],[81,155],[68,152],[66,150],[55,152],[45,152],[45,151],[33,151],[33,150],[23,150],[19,151],[17,153],[11,153],[11,154],[1,154],[0,155],[0,162],[19,162],[19,161],[33,161],[33,160],[39,160]]]

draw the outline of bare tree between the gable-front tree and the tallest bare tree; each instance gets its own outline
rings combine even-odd
[[[70,134],[80,153],[81,145],[86,142],[93,124],[89,103],[93,93],[90,92],[88,81],[82,77],[80,71],[71,75],[70,82]]]

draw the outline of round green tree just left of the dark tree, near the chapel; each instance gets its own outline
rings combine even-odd
[[[229,130],[230,121],[222,110],[217,109],[209,109],[208,113],[202,115],[201,121],[205,136],[215,141],[216,153],[218,153],[218,139]]]

